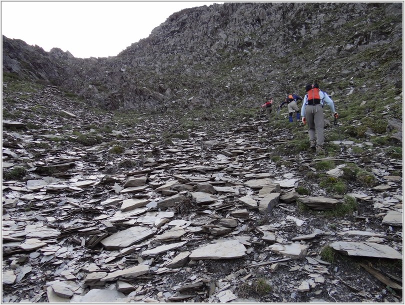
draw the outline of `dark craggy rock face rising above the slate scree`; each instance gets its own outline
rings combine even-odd
[[[204,5],[173,13],[149,37],[107,58],[45,52],[3,36],[3,71],[52,83],[105,109],[249,106],[263,96],[303,91],[314,78],[336,89],[353,75],[367,78],[359,92],[374,89],[375,81],[399,90],[401,5]]]

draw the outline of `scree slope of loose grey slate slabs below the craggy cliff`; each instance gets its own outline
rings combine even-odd
[[[286,113],[185,124],[22,84],[3,87],[3,302],[402,301],[385,135],[316,156]]]

